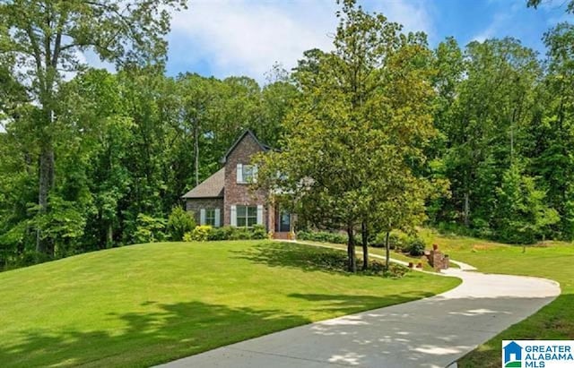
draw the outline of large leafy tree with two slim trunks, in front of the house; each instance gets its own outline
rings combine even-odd
[[[345,1],[335,51],[307,53],[295,73],[302,96],[285,121],[284,150],[260,158],[259,185],[292,193],[317,226],[346,230],[351,271],[355,228],[366,267],[376,203],[391,201],[410,177],[407,163],[422,159],[417,142],[434,132],[425,42]]]

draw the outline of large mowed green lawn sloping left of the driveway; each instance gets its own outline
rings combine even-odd
[[[0,365],[149,366],[457,286],[322,270],[269,241],[140,244],[0,274]]]

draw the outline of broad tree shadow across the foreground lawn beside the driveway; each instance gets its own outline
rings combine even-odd
[[[12,341],[0,345],[0,365],[149,366],[310,322],[281,310],[201,302],[146,305],[148,312],[108,314],[124,321],[123,329],[38,326],[14,333]]]

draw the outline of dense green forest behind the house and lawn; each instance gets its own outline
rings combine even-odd
[[[140,7],[126,20],[80,0],[27,3],[0,3],[0,266],[153,240],[146,234],[161,232],[180,196],[220,168],[241,131],[282,148],[306,124],[292,112],[317,101],[309,86],[337,83],[320,72],[326,56],[355,62],[335,45],[305,52],[292,71],[270,65],[263,85],[245,76],[169,77],[169,16],[142,15],[153,2],[134,1]],[[83,19],[94,14],[107,21]],[[410,167],[444,184],[427,198],[425,221],[513,244],[574,239],[574,26],[541,35],[546,53],[538,55],[512,38],[430,47],[423,33],[389,24],[381,32],[392,29],[387,41],[401,51],[387,63],[394,81],[416,75],[428,87],[423,104],[403,111],[413,119],[404,129],[416,114],[431,116],[433,133],[413,135],[421,159]],[[115,27],[117,41],[102,47]],[[69,44],[56,44],[58,31]],[[117,73],[79,63],[65,52],[74,47],[94,47]],[[371,87],[381,87],[378,98],[395,96]]]

